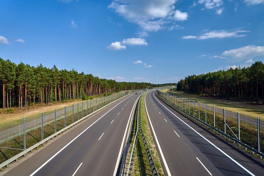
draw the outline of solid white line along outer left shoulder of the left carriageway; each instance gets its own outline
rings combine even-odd
[[[132,96],[132,95],[131,95]],[[129,97],[131,97],[129,96]],[[128,97],[128,98],[129,98]],[[90,127],[92,127],[95,123],[97,123],[100,119],[102,119],[107,113],[112,111],[115,107],[117,107],[119,104],[127,100],[128,98],[124,99],[120,103],[118,103],[116,106],[114,106],[112,109],[110,109],[108,112],[106,112],[103,116],[101,116],[99,119],[97,119],[93,124],[91,124],[89,127],[84,129],[80,134],[78,134],[74,139],[72,139],[69,143],[67,143],[64,147],[62,147],[57,153],[55,153],[53,156],[51,156],[46,162],[44,162],[39,168],[37,168],[33,173],[31,173],[29,176],[33,176],[35,173],[37,173],[42,167],[44,167],[51,159],[53,159],[55,156],[57,156],[62,150],[64,150],[68,145],[70,145],[74,140],[76,140],[80,135],[82,135],[86,130],[88,130]]]

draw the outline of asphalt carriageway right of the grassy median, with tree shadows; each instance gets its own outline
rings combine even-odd
[[[166,175],[263,175],[251,158],[149,92],[145,106]]]

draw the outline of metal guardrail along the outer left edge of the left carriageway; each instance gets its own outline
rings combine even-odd
[[[131,93],[131,94],[133,94],[133,93]],[[128,94],[128,95],[130,95],[130,94]],[[127,96],[127,95],[125,95],[125,96]],[[123,96],[123,97],[125,97],[125,96]],[[83,117],[83,118],[81,118],[81,119],[79,119],[79,120],[73,122],[72,124],[70,124],[70,125],[64,127],[63,129],[57,131],[56,133],[53,133],[52,135],[46,137],[45,139],[41,140],[40,142],[36,143],[35,145],[32,145],[32,146],[28,147],[28,148],[25,149],[24,151],[22,151],[22,152],[16,154],[15,156],[13,156],[13,157],[7,159],[6,161],[0,163],[0,169],[3,168],[3,167],[5,167],[5,166],[8,167],[8,165],[9,165],[11,162],[13,162],[13,161],[18,161],[18,159],[19,159],[20,157],[25,156],[28,152],[32,152],[33,149],[37,148],[37,147],[40,146],[40,145],[44,145],[45,142],[49,141],[50,139],[54,138],[55,136],[59,135],[60,133],[64,132],[65,130],[71,128],[72,126],[76,125],[77,123],[80,123],[81,121],[87,119],[88,117],[90,117],[90,116],[96,114],[97,112],[101,111],[102,109],[106,108],[107,106],[109,106],[109,105],[113,104],[114,102],[116,102],[116,101],[122,99],[123,97],[121,97],[121,98],[119,98],[119,99],[117,99],[117,100],[115,100],[115,101],[113,101],[113,102],[111,102],[111,103],[109,103],[109,104],[103,106],[102,108],[100,108],[100,109],[98,109],[98,110],[96,110],[96,111],[90,113],[89,115],[87,115],[87,116],[85,116],[85,117]],[[24,134],[25,134],[25,132],[24,132]],[[24,136],[25,136],[25,135],[24,135]]]

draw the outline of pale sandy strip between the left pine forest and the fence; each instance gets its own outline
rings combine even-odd
[[[52,104],[52,105],[47,105],[47,106],[43,106],[43,107],[35,107],[32,109],[28,109],[28,110],[18,110],[16,109],[14,113],[12,114],[3,114],[0,113],[0,124],[3,123],[7,123],[10,121],[14,121],[14,120],[18,120],[18,119],[22,119],[24,117],[29,117],[29,116],[33,116],[36,114],[40,114],[41,112],[47,112],[47,111],[52,111],[55,108],[59,109],[59,108],[63,108],[64,106],[69,106],[72,105],[73,103],[76,104],[78,102],[81,101],[72,101],[72,102],[67,102],[67,103],[57,103],[57,104]]]

